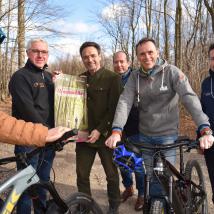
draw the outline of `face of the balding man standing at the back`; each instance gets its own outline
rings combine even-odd
[[[126,54],[123,52],[118,52],[113,58],[114,71],[118,74],[125,73],[129,68],[129,62],[127,61]]]

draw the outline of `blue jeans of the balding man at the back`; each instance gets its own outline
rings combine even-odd
[[[138,135],[133,135],[129,137],[131,141],[137,141]],[[131,187],[133,185],[133,178],[132,173],[124,170],[120,170],[122,183],[125,188]],[[145,176],[145,169],[142,163],[141,168],[139,168],[138,172],[134,172],[135,174],[135,181],[136,181],[136,188],[138,190],[138,196],[144,195],[144,176]]]

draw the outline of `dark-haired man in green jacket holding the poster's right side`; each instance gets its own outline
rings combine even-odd
[[[88,130],[87,142],[76,145],[77,186],[91,195],[90,172],[96,153],[103,165],[109,199],[109,214],[118,213],[120,203],[119,176],[112,162],[113,151],[105,146],[122,87],[120,76],[101,67],[101,48],[95,42],[85,42],[80,55],[87,77]]]

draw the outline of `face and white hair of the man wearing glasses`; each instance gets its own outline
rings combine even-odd
[[[48,46],[44,42],[33,42],[27,50],[30,61],[38,68],[43,68],[48,61]]]

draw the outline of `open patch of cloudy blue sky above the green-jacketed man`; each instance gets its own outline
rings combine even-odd
[[[59,5],[59,0],[50,1],[53,4]],[[62,3],[61,3],[62,2]],[[93,0],[61,0],[60,6],[65,9],[69,15],[66,18],[61,18],[55,26],[58,26],[63,32],[70,35],[60,38],[57,43],[61,46],[55,50],[54,55],[60,57],[64,53],[72,55],[78,54],[80,45],[86,40],[99,42],[100,26],[96,22],[95,14],[102,11],[103,5],[99,1]],[[63,5],[62,5],[63,4]],[[50,60],[52,60],[51,58]]]

